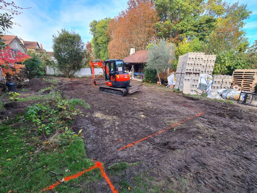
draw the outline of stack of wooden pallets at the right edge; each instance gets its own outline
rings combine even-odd
[[[239,86],[242,91],[254,93],[257,84],[257,69],[235,70],[232,83],[233,86]]]

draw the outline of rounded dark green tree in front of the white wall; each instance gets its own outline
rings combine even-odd
[[[61,29],[58,35],[53,35],[53,55],[57,60],[58,69],[66,77],[73,75],[83,67],[85,58],[85,43],[75,31]]]

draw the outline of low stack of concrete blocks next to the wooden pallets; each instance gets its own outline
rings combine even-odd
[[[212,75],[212,89],[227,89],[231,87],[233,76],[229,75]]]

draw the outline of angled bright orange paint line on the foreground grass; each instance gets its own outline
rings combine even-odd
[[[112,185],[112,182],[110,181],[110,179],[106,175],[106,173],[105,173],[105,171],[103,169],[103,164],[101,162],[96,162],[94,166],[88,168],[87,170],[83,170],[83,171],[78,172],[78,173],[76,173],[74,175],[64,177],[64,181],[66,182],[66,181],[69,181],[71,179],[74,179],[74,178],[77,178],[79,176],[82,176],[82,174],[84,174],[85,172],[89,172],[90,170],[93,170],[93,169],[96,169],[96,168],[100,169],[100,172],[101,172],[102,176],[105,178],[106,182],[108,183],[108,185],[112,189],[112,192],[113,193],[118,193],[117,189]],[[44,188],[41,192],[44,192],[44,191],[47,191],[47,190],[51,190],[54,187],[56,187],[57,185],[59,185],[60,183],[61,183],[61,181],[58,181],[58,182],[52,184],[50,187]]]

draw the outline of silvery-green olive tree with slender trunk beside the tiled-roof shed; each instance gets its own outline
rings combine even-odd
[[[146,68],[155,69],[161,84],[160,73],[173,67],[175,59],[175,46],[165,39],[158,39],[152,42],[147,50]]]

